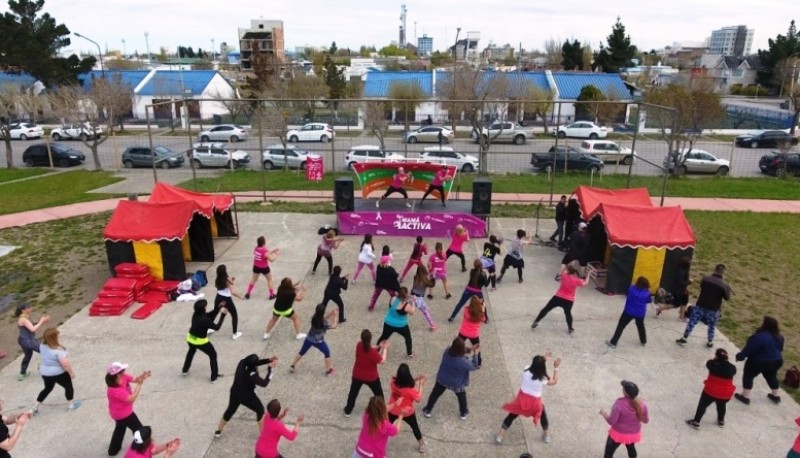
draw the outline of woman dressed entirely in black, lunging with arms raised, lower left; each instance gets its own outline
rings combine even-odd
[[[267,375],[263,378],[258,375],[258,366],[267,364]],[[240,405],[244,405],[256,414],[256,421],[258,421],[258,430],[261,431],[263,427],[262,419],[264,418],[264,406],[261,400],[256,396],[256,386],[262,388],[269,385],[272,380],[272,369],[278,365],[278,357],[259,359],[255,353],[248,355],[236,366],[236,374],[233,377],[233,385],[231,385],[231,395],[228,400],[228,408],[222,414],[222,419],[219,421],[217,430],[214,431],[214,437],[222,435],[225,425],[231,421],[233,414],[239,409]]]

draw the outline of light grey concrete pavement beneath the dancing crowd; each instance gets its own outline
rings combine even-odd
[[[334,223],[333,216],[245,213],[240,214],[239,220],[241,239],[220,242],[217,263],[225,263],[238,278],[239,288],[244,288],[249,277],[253,241],[258,235],[266,235],[271,248],[282,249],[274,265],[277,277],[303,279],[309,287],[309,297],[297,307],[303,328],[306,328],[311,307],[321,298],[326,280],[324,275],[309,274],[318,241],[316,229],[325,223]],[[552,230],[550,226],[545,224],[542,233]],[[531,220],[492,220],[492,232],[507,238],[518,228],[531,227]],[[377,243],[391,245],[396,250],[398,264],[404,265],[411,248],[410,239],[387,238]],[[467,253],[476,256],[482,243],[483,240],[470,242],[466,246]],[[358,245],[358,239],[348,237],[334,254],[336,262],[347,271],[355,264]],[[603,448],[607,429],[597,411],[610,408],[620,396],[619,381],[623,378],[639,383],[642,397],[651,410],[652,421],[644,428],[644,441],[639,446],[641,456],[785,455],[797,433],[793,419],[798,406],[786,395],[782,404],[772,405],[766,399],[767,387],[763,380],[756,382],[752,405],[732,401],[725,429],[712,426],[712,412],[707,414],[700,431],[683,423],[694,412],[705,378],[704,362],[711,353],[705,348],[702,328],[695,331],[686,348],[681,348],[674,340],[683,325],[674,315],[665,314],[658,320],[649,317],[647,347],[639,346],[631,326],[618,349],[609,350],[603,342],[613,331],[624,299],[587,288],[578,294],[574,336],[566,333],[558,311],[549,315],[536,331],[531,331],[533,314],[556,289],[552,277],[559,259],[560,253],[552,248],[531,246],[526,251],[525,282],[518,284],[511,276],[497,292],[488,294],[492,321],[482,333],[484,367],[474,374],[468,391],[471,416],[467,421],[459,420],[455,398],[446,393],[433,418],[420,419],[430,456],[515,457],[526,450],[534,456],[597,456]],[[190,267],[213,272],[216,263]],[[452,290],[457,296],[466,274],[458,272],[456,261],[452,259],[450,267]],[[146,382],[136,403],[136,412],[145,424],[153,426],[157,439],[180,436],[183,439],[180,456],[252,456],[257,430],[254,415],[249,411],[240,410],[220,439],[213,438],[213,431],[225,409],[230,375],[237,361],[256,352],[281,358],[273,382],[266,389],[258,390],[261,399],[265,402],[273,397],[280,399],[290,407],[290,418],[299,412],[306,414],[298,440],[283,444],[283,453],[302,457],[349,457],[360,426],[357,415],[349,419],[341,415],[353,347],[361,329],[380,331],[386,303],[384,296],[378,310],[367,313],[371,290],[369,282],[362,280],[344,296],[348,321],[341,329],[331,331],[328,337],[339,369],[332,378],[324,376],[322,358],[313,350],[299,366],[298,373],[288,373],[288,361],[300,346],[293,338],[289,323],[280,323],[273,338],[262,342],[261,333],[270,310],[270,304],[262,299],[263,284],[258,285],[254,299],[238,304],[243,337],[237,341],[230,339],[229,321],[223,332],[212,337],[220,355],[222,372],[228,375],[214,385],[208,382],[207,359],[201,354],[196,357],[190,375],[180,376],[190,304],[168,304],[144,321],[130,319],[127,316],[130,312],[116,318],[90,318],[81,313],[61,329],[63,343],[70,351],[77,373],[76,396],[84,400],[84,405],[75,412],[65,412],[63,392],[57,388],[42,407],[40,416],[26,427],[14,455],[105,456],[113,424],[106,413],[103,373],[109,362],[122,360],[131,363],[133,372],[153,371],[152,379]],[[208,286],[205,292],[213,294],[213,289]],[[456,324],[448,325],[445,321],[455,301],[443,300],[441,290],[436,293],[437,298],[431,305],[440,329],[430,333],[421,316],[411,320],[418,356],[409,363],[414,373],[431,377],[435,375],[441,351],[457,332]],[[722,336],[717,345],[731,353],[735,351]],[[550,387],[544,398],[551,418],[552,443],[542,443],[540,431],[534,431],[530,422],[518,421],[502,446],[493,445],[492,438],[503,418],[500,406],[516,392],[520,372],[531,357],[548,350],[564,359],[561,381]],[[34,368],[37,362],[38,356],[34,358]],[[384,386],[388,386],[390,374],[401,362],[408,362],[402,339],[393,337],[389,360],[381,372]],[[0,372],[0,392],[6,402],[6,412],[29,407],[41,388],[35,369],[27,381],[17,382],[16,364]],[[741,373],[742,365],[738,367]],[[737,384],[740,380],[737,377]],[[363,409],[367,397],[367,392],[362,392],[357,411]],[[128,434],[126,443],[130,440]],[[622,453],[618,452],[618,456]],[[390,442],[389,455],[418,455],[408,428],[404,427],[401,436]]]

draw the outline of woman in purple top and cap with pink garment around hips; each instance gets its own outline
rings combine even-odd
[[[636,458],[636,444],[642,440],[642,423],[650,422],[647,404],[639,399],[639,387],[622,381],[622,397],[614,401],[611,413],[600,410],[600,415],[611,425],[608,429],[603,458],[611,458],[620,445],[628,449],[628,458]]]

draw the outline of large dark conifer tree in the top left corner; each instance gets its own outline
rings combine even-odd
[[[0,71],[26,72],[49,88],[78,84],[78,75],[94,67],[94,57],[59,56],[71,44],[70,31],[49,14],[40,15],[44,0],[9,0],[8,6],[0,16]]]

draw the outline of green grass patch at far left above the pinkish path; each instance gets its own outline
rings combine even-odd
[[[0,193],[5,197],[0,215],[105,199],[109,196],[88,191],[120,180],[122,178],[113,177],[109,172],[74,170],[8,183],[0,186]]]

